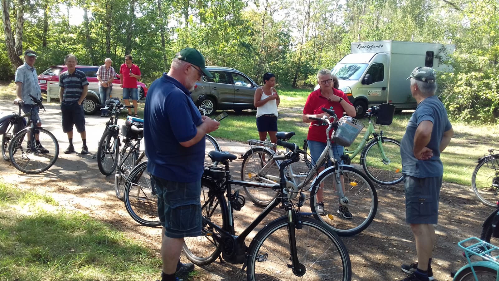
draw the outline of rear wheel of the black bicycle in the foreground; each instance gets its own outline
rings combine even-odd
[[[203,228],[201,235],[197,237],[185,237],[182,246],[187,258],[198,266],[203,266],[214,262],[222,252],[221,245],[213,238],[217,235],[216,229],[207,224],[204,220],[209,220],[216,225],[227,229],[227,205],[223,193],[216,192],[208,194],[211,186],[210,181],[201,182],[201,212],[203,217]]]

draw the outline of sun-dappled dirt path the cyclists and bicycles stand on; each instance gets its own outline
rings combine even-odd
[[[114,178],[103,176],[96,160],[92,158],[97,151],[97,142],[106,119],[97,115],[86,118],[90,154],[64,154],[62,151],[68,143],[60,129],[60,110],[57,105],[47,105],[47,109],[41,119],[44,126],[58,138],[61,150],[55,165],[42,174],[26,175],[9,162],[1,160],[0,177],[19,188],[46,193],[66,209],[88,213],[95,219],[112,224],[159,254],[160,228],[138,225],[129,217],[123,202],[114,195]],[[0,112],[12,110],[15,107],[11,101],[0,100]],[[74,142],[76,148],[81,146],[79,135],[75,134]],[[247,143],[225,140],[219,142],[223,150],[237,155],[248,147]],[[236,178],[239,178],[241,162],[242,160],[235,160],[231,166]],[[389,188],[376,188],[379,206],[374,221],[363,232],[343,238],[352,260],[352,280],[403,279],[405,275],[400,270],[400,264],[413,262],[416,258],[414,238],[405,223],[403,187],[399,184]],[[260,208],[248,202],[242,211],[235,212],[236,221],[245,226],[259,211]],[[437,246],[433,255],[433,270],[437,280],[451,280],[449,272],[464,264],[457,242],[469,236],[479,236],[481,223],[491,211],[492,208],[479,203],[469,186],[444,183],[440,219],[436,226]],[[273,217],[279,215],[281,214],[277,211]],[[247,244],[249,242],[250,240]],[[196,279],[244,280],[244,272],[236,273],[240,267],[219,262],[203,268],[197,267],[200,275]]]

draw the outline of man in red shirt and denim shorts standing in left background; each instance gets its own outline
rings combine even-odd
[[[139,66],[132,63],[132,56],[130,54],[125,55],[125,63],[121,64],[120,67],[120,87],[123,88],[123,99],[126,105],[130,105],[129,98],[133,101],[133,111],[135,117],[137,115],[137,100],[138,90],[137,90],[137,79],[142,77],[140,73]],[[128,108],[128,115],[132,115],[132,110]]]

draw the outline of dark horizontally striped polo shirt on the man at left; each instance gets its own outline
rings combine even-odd
[[[75,69],[73,73],[69,73],[68,70],[62,72],[59,75],[59,86],[64,88],[62,103],[73,104],[78,101],[84,85],[88,85],[88,81],[83,71]]]

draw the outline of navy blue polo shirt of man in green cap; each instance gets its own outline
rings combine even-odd
[[[180,142],[196,136],[203,122],[191,92],[163,73],[147,91],[144,107],[144,140],[147,170],[177,182],[194,182],[203,175],[206,140],[184,147]]]

